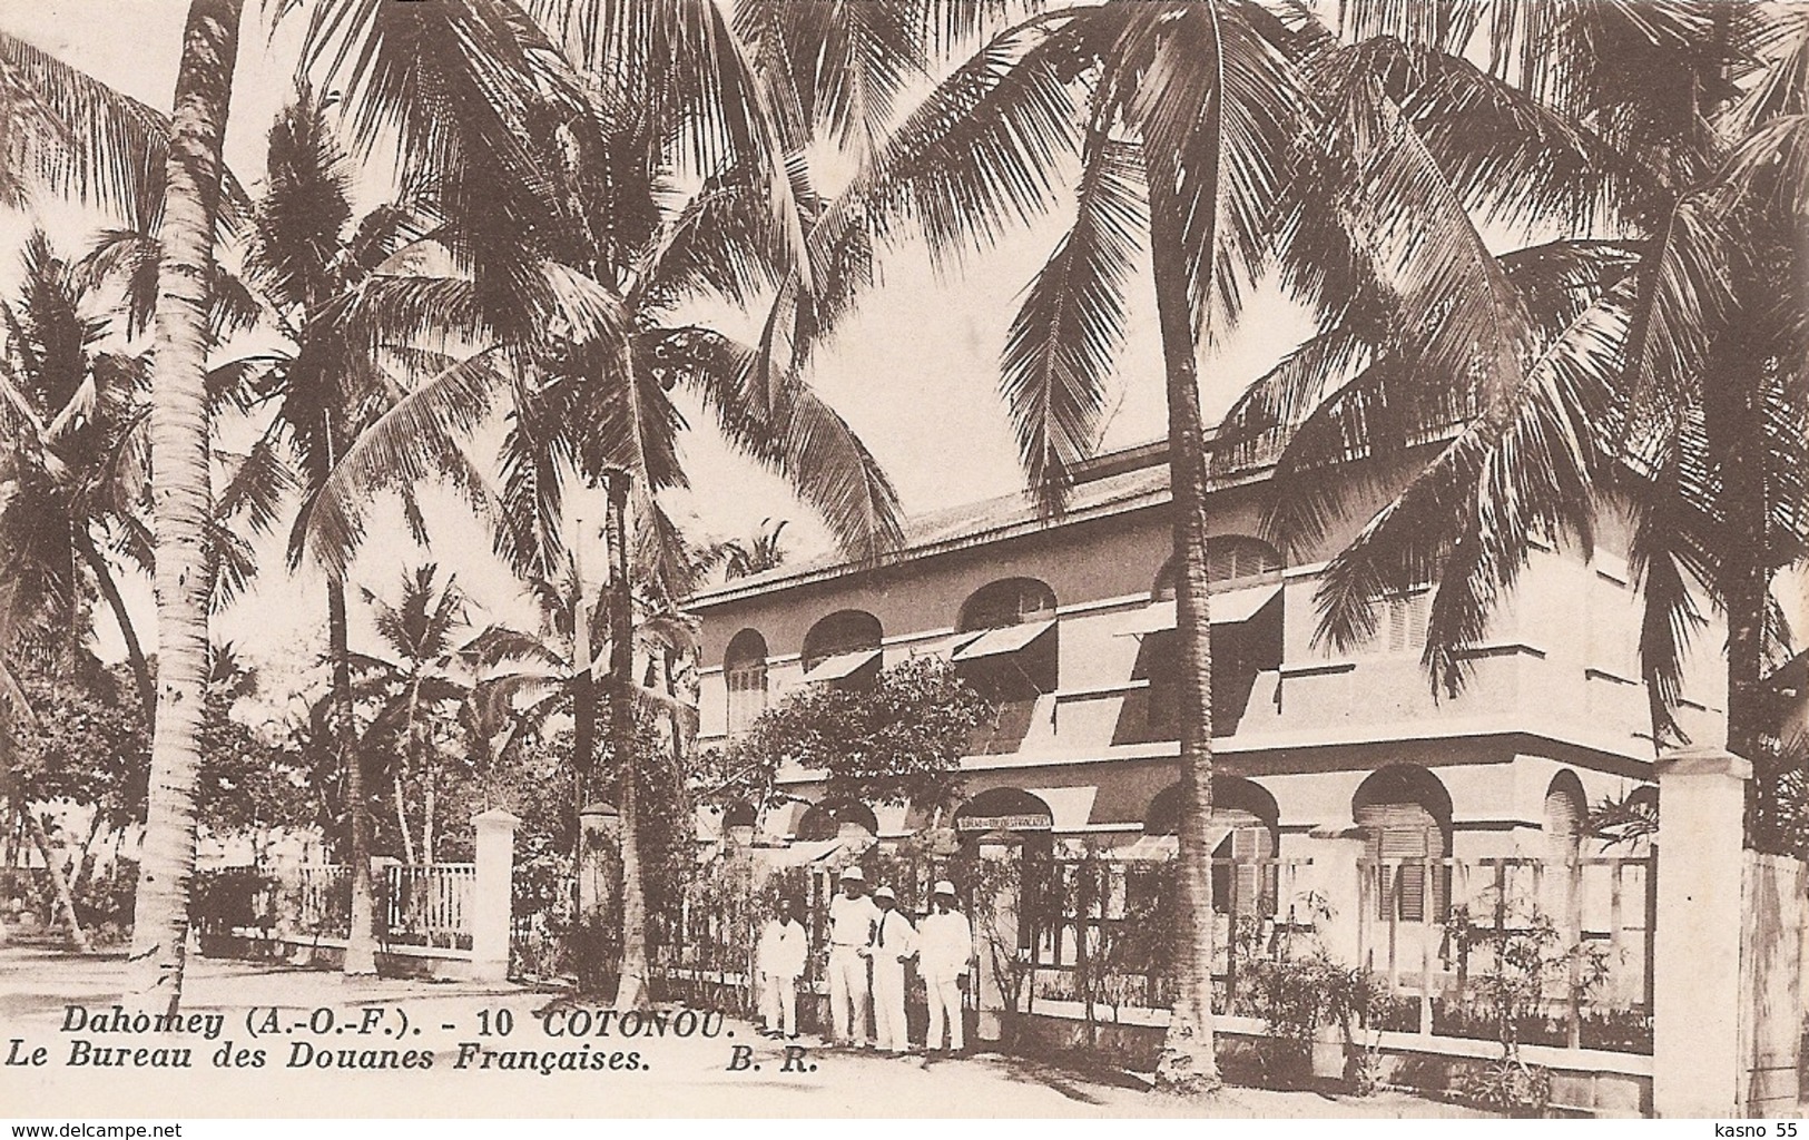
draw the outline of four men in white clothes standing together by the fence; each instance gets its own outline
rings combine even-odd
[[[781,898],[776,916],[760,934],[756,952],[762,974],[762,1017],[769,1037],[798,1037],[798,977],[809,954],[807,936]],[[897,908],[897,894],[879,887],[868,898],[859,867],[841,872],[841,892],[829,903],[829,1012],[830,1039],[841,1046],[872,1048],[874,1037],[886,1053],[910,1053],[904,1031],[904,964],[917,961],[930,1001],[930,1031],[924,1046],[964,1048],[961,993],[973,959],[973,928],[955,908],[955,885],[939,879],[930,890],[930,914],[921,926]],[[868,981],[870,979],[870,981]],[[874,1035],[867,1031],[867,1001],[872,995]]]

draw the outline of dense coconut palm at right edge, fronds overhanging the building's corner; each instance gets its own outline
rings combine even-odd
[[[1462,58],[1474,25],[1350,9],[1364,43],[1411,56],[1395,69],[1398,103],[1465,199],[1570,232],[1498,259],[1532,331],[1527,382],[1494,414],[1415,411],[1377,432],[1375,407],[1389,404],[1402,362],[1368,338],[1369,360],[1350,367],[1351,346],[1366,344],[1353,309],[1357,320],[1290,358],[1232,423],[1250,438],[1283,427],[1275,514],[1286,527],[1335,505],[1317,474],[1359,423],[1386,454],[1467,422],[1330,563],[1319,595],[1319,635],[1350,644],[1373,632],[1380,594],[1436,575],[1425,662],[1438,689],[1463,682],[1463,650],[1525,565],[1529,537],[1586,543],[1599,496],[1630,499],[1655,733],[1675,727],[1684,648],[1700,626],[1695,581],[1729,615],[1729,746],[1755,753],[1762,660],[1778,630],[1769,577],[1804,556],[1809,530],[1800,273],[1787,253],[1800,224],[1787,186],[1802,161],[1802,25],[1738,4],[1503,0],[1496,14],[1509,31],[1483,72]],[[1324,54],[1382,51],[1364,43]],[[1453,98],[1453,74],[1541,127],[1520,134],[1543,179],[1494,170],[1467,181],[1491,168],[1453,143],[1514,132],[1460,130],[1487,103]]]

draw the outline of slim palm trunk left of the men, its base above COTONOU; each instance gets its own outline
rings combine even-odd
[[[628,584],[628,472],[610,472],[610,751],[622,825],[622,972],[615,1008],[646,1004],[648,896],[640,867],[640,773],[635,764],[635,641]]]

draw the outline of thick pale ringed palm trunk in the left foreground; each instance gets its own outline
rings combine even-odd
[[[195,869],[195,771],[208,682],[208,280],[221,143],[242,0],[194,0],[175,76],[157,270],[150,467],[156,516],[157,717],[132,926],[132,984],[175,1013]]]

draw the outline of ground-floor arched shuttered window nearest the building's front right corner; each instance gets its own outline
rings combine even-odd
[[[1373,773],[1351,796],[1377,867],[1377,917],[1438,921],[1449,890],[1442,860],[1451,856],[1451,794],[1424,767],[1398,764]]]

